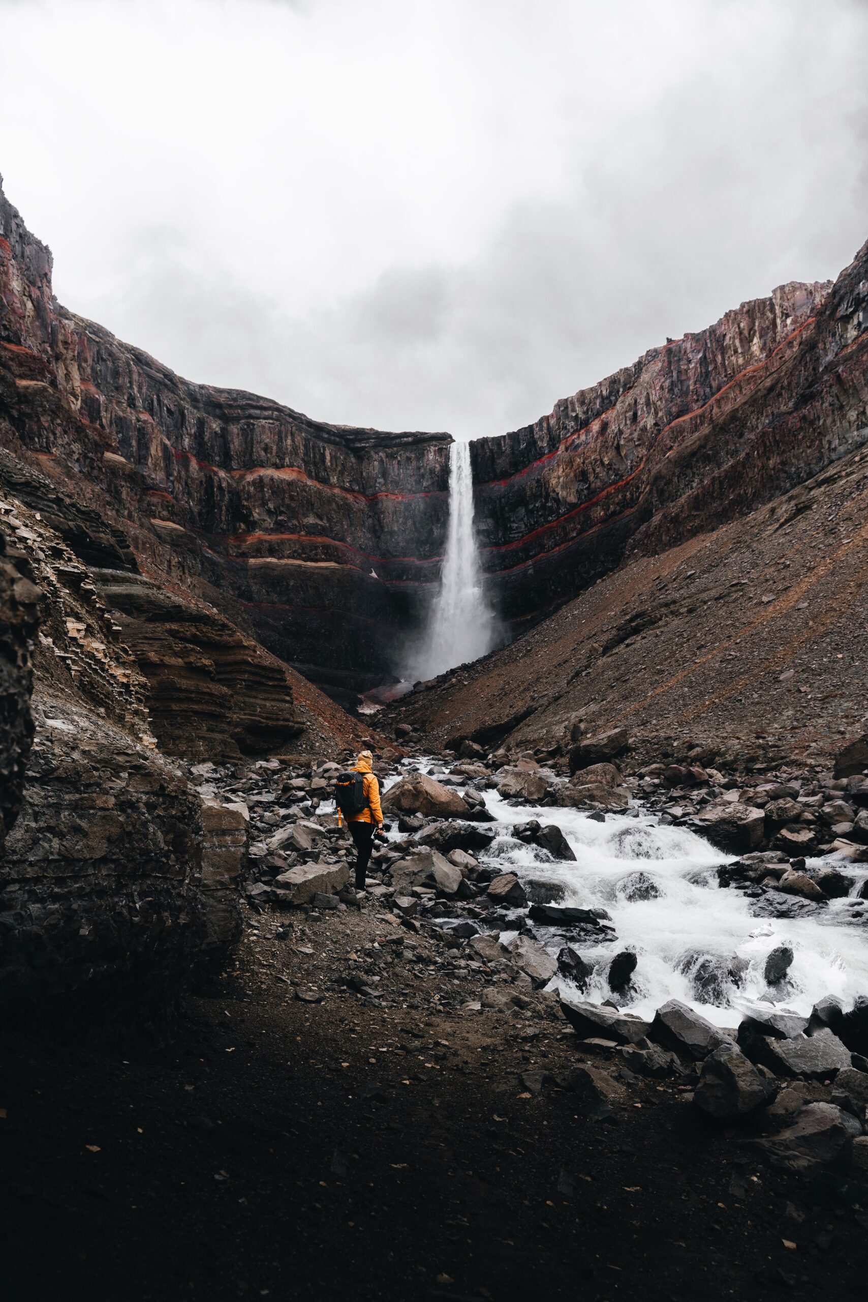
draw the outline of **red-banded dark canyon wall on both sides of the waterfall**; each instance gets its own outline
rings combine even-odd
[[[48,250],[1,195],[0,294],[0,443],[92,505],[144,578],[338,699],[396,674],[440,573],[449,435],[325,424],[176,376],[56,303]],[[856,447],[867,314],[863,249],[834,285],[783,285],[475,441],[483,568],[508,631]],[[103,585],[130,628],[137,587]]]

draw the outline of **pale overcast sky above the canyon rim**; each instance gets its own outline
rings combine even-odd
[[[867,60],[867,0],[0,0],[0,172],[190,379],[475,437],[837,275]]]

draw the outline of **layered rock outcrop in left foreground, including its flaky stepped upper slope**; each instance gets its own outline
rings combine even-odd
[[[102,572],[64,540],[122,565],[111,531],[17,467],[31,509],[4,466],[0,1003],[164,1004],[237,934],[246,816],[207,807],[156,750],[148,680],[100,600]]]

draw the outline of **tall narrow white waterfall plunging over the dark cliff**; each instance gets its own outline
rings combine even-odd
[[[457,664],[478,660],[497,637],[495,613],[484,589],[474,533],[474,482],[470,444],[449,449],[449,530],[446,553],[422,646],[411,663],[411,677],[435,678]]]

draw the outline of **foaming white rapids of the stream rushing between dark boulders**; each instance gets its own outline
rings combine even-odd
[[[630,814],[606,814],[605,823],[599,823],[579,810],[511,805],[496,790],[485,790],[484,797],[497,822],[483,825],[497,837],[475,854],[481,865],[515,871],[526,888],[531,883],[561,888],[557,904],[605,909],[610,915],[614,939],[574,943],[593,966],[587,990],[579,992],[561,976],[552,988],[592,1003],[613,999],[642,1017],[653,1016],[668,999],[679,999],[718,1026],[737,1025],[757,1005],[807,1014],[825,995],[845,1006],[856,995],[868,995],[868,904],[856,902],[854,894],[830,901],[812,917],[756,918],[743,892],[718,885],[716,868],[733,855],[688,828],[661,823],[642,806]],[[548,852],[515,838],[513,825],[530,819],[556,823],[576,862],[553,862]],[[855,879],[854,892],[868,878],[865,866],[841,867]],[[635,885],[639,872],[658,892],[656,898],[629,897],[630,879]],[[562,936],[547,936],[544,928],[537,937],[553,953],[565,943]],[[793,948],[793,965],[783,983],[769,987],[765,961],[780,945]],[[613,993],[606,980],[609,963],[622,949],[638,956],[626,995]],[[713,973],[711,995],[698,995],[691,979],[698,967]]]

